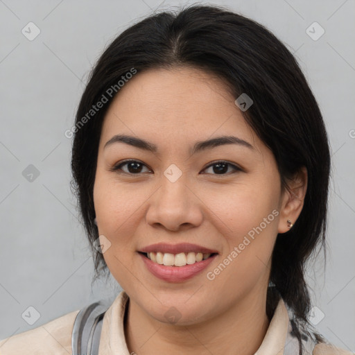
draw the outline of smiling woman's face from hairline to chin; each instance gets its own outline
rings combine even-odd
[[[288,230],[280,218],[287,194],[272,152],[235,100],[205,72],[155,69],[125,83],[105,116],[94,184],[103,256],[131,301],[162,322],[173,313],[192,324],[266,297],[272,248]],[[122,141],[105,146],[115,135],[144,139],[156,151]],[[236,143],[192,154],[197,142],[221,136]],[[126,160],[135,162],[113,170]],[[155,243],[193,243],[218,254],[193,266],[159,266],[139,253]],[[183,263],[183,251],[173,261]],[[208,265],[191,276],[200,262]],[[165,277],[150,271],[152,263]]]

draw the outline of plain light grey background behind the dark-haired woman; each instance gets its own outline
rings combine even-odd
[[[64,131],[103,48],[152,10],[187,3],[161,2],[0,0],[0,339],[121,290],[114,279],[91,286],[93,262],[69,189],[71,139]],[[324,272],[320,253],[309,285],[324,313],[318,330],[355,352],[355,1],[210,3],[273,31],[297,56],[318,99],[334,166],[327,266]],[[21,33],[30,21],[41,31],[33,41]],[[314,21],[325,31],[316,41],[306,33]],[[40,173],[32,182],[22,174],[30,164]],[[28,306],[40,313],[32,326],[21,318]]]

